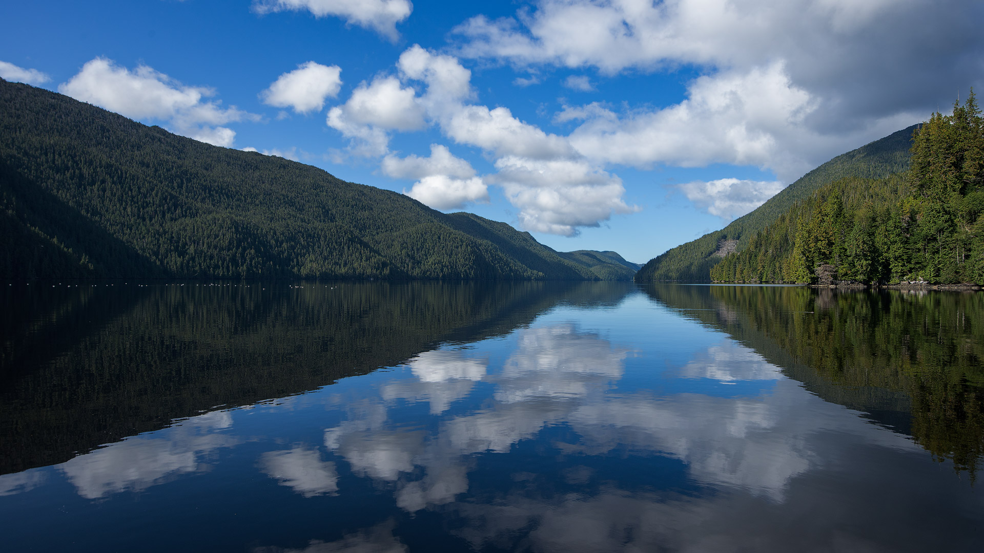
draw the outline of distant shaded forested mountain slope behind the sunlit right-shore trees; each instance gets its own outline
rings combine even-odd
[[[769,198],[752,213],[649,260],[636,275],[636,281],[708,281],[710,268],[723,256],[744,250],[756,233],[818,189],[846,177],[884,178],[906,170],[915,129],[913,125],[847,154],[837,155]]]

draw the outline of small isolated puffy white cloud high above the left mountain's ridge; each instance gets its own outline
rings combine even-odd
[[[309,61],[284,73],[264,92],[263,102],[275,107],[292,107],[297,113],[321,111],[325,98],[338,95],[341,68]]]

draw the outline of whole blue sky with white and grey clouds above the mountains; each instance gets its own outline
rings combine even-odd
[[[984,80],[970,0],[0,7],[0,77],[644,263]]]

